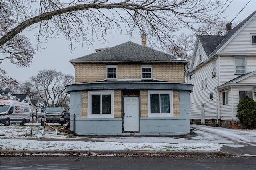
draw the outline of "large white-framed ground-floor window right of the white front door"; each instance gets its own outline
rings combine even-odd
[[[148,90],[148,117],[173,117],[172,91]]]

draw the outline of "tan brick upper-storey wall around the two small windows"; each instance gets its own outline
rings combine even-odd
[[[141,78],[141,64],[118,64],[118,78]],[[76,63],[75,82],[95,82],[106,78],[106,64],[104,63]],[[153,78],[184,82],[184,64],[153,64]]]

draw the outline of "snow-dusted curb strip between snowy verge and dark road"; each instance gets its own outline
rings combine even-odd
[[[147,157],[230,157],[242,156],[219,151],[140,151],[140,150],[1,150],[1,156],[147,156]]]

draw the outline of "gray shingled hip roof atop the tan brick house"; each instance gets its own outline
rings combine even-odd
[[[96,53],[92,53],[89,55],[85,55],[83,57],[79,57],[76,59],[70,60],[70,62],[173,62],[183,61],[178,57],[175,57],[170,54],[166,54],[161,51],[157,51],[154,49],[150,49],[149,47],[144,47],[142,45],[133,43],[128,41],[126,43],[122,43],[120,45],[116,45],[114,47],[110,47],[108,49],[104,49],[102,51],[98,51]]]

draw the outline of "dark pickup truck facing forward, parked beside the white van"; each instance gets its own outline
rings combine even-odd
[[[38,112],[37,115],[42,115],[41,125],[46,123],[60,123],[64,122],[64,112],[61,107],[46,107],[44,112]]]

